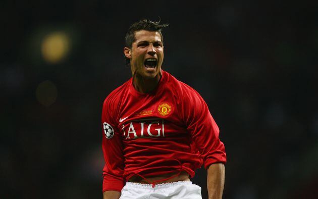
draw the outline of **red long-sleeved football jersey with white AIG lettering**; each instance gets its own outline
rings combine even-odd
[[[102,108],[103,192],[121,191],[134,175],[157,176],[226,163],[219,128],[202,97],[168,72],[150,93],[132,78]]]

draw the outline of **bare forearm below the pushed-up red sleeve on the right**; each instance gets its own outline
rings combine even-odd
[[[207,169],[207,192],[209,199],[221,199],[224,187],[225,166],[211,164]]]

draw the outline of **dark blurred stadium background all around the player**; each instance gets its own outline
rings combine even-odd
[[[224,198],[313,198],[316,2],[2,2],[0,198],[102,197],[102,102],[131,77],[128,27],[158,16],[163,69],[220,127]],[[192,180],[206,198],[206,171]]]

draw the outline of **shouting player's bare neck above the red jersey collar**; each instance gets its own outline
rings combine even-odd
[[[151,79],[145,79],[138,74],[133,76],[133,85],[141,93],[151,92],[158,85],[162,75],[158,73],[157,76]]]

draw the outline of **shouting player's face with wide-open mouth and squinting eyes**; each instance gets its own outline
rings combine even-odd
[[[133,75],[151,79],[161,74],[164,46],[159,32],[136,31],[132,48],[125,47],[124,54],[130,59]]]

